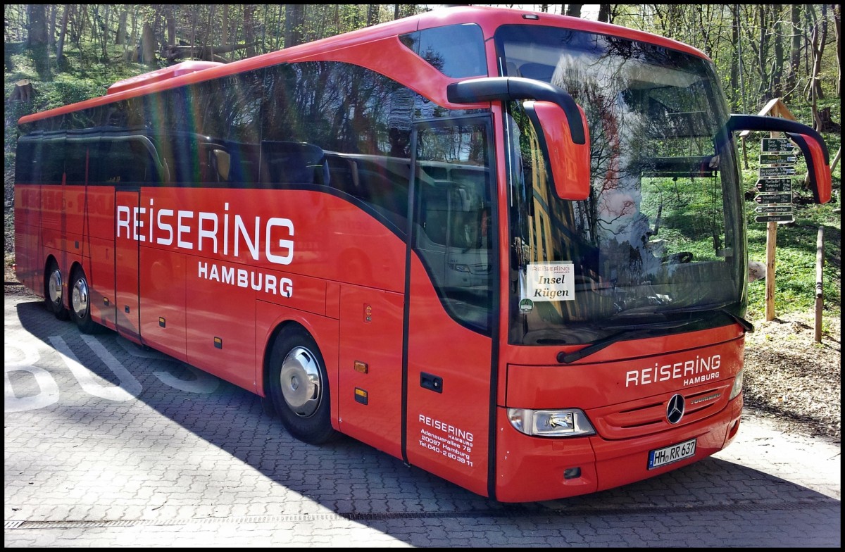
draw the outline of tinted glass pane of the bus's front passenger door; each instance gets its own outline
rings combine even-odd
[[[489,124],[420,125],[414,249],[455,320],[489,332],[495,289]]]

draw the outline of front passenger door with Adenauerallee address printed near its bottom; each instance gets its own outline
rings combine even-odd
[[[484,118],[415,129],[406,317],[407,461],[481,495],[494,404],[490,132]]]

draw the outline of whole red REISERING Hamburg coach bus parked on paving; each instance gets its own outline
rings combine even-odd
[[[449,8],[188,62],[19,121],[20,281],[503,502],[649,478],[742,410],[747,254],[731,115],[703,53]]]

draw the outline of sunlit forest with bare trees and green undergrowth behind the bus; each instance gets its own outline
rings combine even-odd
[[[477,4],[512,8],[515,4]],[[838,4],[521,4],[531,11],[598,19],[695,46],[709,56],[731,112],[758,114],[780,99],[819,130],[831,154],[833,198],[814,205],[793,192],[795,221],[778,225],[775,320],[766,320],[764,281],[749,287],[746,403],[841,431],[842,34]],[[187,60],[245,57],[377,25],[427,4],[4,4],[4,254],[14,264],[17,120],[102,96],[117,80]],[[755,221],[760,134],[741,139],[750,260],[766,262],[766,223]],[[797,172],[806,173],[803,161]],[[824,229],[821,342],[813,333],[816,242]],[[760,361],[754,366],[755,359]],[[805,362],[810,359],[813,362]],[[751,366],[750,366],[751,364]]]

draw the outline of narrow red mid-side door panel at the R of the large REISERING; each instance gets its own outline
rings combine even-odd
[[[115,240],[115,324],[117,333],[140,342],[139,326],[139,190],[117,191],[117,238]],[[140,219],[139,219],[140,220]],[[141,227],[143,228],[143,227]]]

